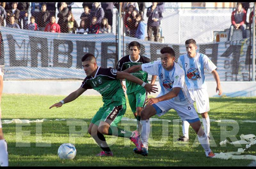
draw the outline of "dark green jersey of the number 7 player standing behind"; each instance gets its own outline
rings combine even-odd
[[[148,63],[150,62],[150,59],[145,57],[145,56],[140,56],[139,55],[139,59],[135,62],[132,61],[132,59],[130,58],[130,55],[124,56],[122,57],[122,59],[120,59],[120,61],[117,64],[116,69],[118,71],[124,71],[125,69],[130,68],[133,65],[140,65],[143,63]],[[133,76],[138,77],[139,79],[143,80],[143,82],[148,83],[148,73],[140,70],[134,73],[131,73]],[[138,90],[140,90],[141,88],[143,88],[142,86],[138,85],[137,83],[133,83],[129,80],[126,80],[126,93],[130,94],[132,92],[136,92]]]

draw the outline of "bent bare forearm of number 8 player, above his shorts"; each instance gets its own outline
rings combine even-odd
[[[172,88],[171,92],[166,93],[163,96],[160,96],[158,98],[148,98],[147,101],[146,101],[146,104],[151,106],[151,105],[153,105],[155,103],[158,103],[160,101],[172,99],[172,98],[178,96],[179,92],[180,92],[180,87],[174,87],[174,88]]]

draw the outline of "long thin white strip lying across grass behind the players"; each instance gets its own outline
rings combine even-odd
[[[157,118],[150,118],[152,121],[168,121],[171,122],[171,120],[165,120],[165,119],[157,119]],[[36,120],[20,120],[20,119],[12,119],[12,120],[2,120],[2,124],[10,124],[10,123],[33,123],[33,122],[44,122],[44,121],[65,121],[66,119],[55,119],[55,120],[47,120],[47,119],[36,119]],[[122,118],[123,121],[137,121],[136,119],[130,119],[127,117],[123,117]],[[181,119],[173,119],[172,121],[181,121]],[[200,121],[202,121],[202,119],[200,119]],[[227,119],[223,119],[223,120],[214,120],[211,119],[211,122],[234,122],[235,120],[227,120]],[[246,123],[256,123],[256,121],[252,121],[252,120],[244,120],[244,121],[237,121],[237,122],[246,122]],[[227,142],[229,143],[229,142]]]

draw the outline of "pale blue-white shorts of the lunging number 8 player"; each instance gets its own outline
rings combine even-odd
[[[156,109],[156,115],[158,116],[162,116],[169,110],[174,109],[183,121],[194,120],[197,118],[199,120],[198,114],[196,113],[196,109],[193,104],[183,106],[170,102],[170,100],[164,100],[153,104],[152,106]]]

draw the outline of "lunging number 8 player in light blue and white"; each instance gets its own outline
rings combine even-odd
[[[204,148],[207,157],[213,157],[210,149],[209,139],[201,128],[201,122],[196,113],[187,86],[185,85],[184,70],[174,62],[175,53],[170,47],[161,49],[161,61],[135,65],[124,72],[132,73],[139,70],[159,77],[161,92],[156,98],[147,99],[147,106],[141,111],[142,132],[141,139],[143,147],[141,150],[134,148],[133,151],[144,156],[148,155],[148,137],[150,133],[149,118],[153,115],[161,116],[174,109],[182,120],[186,120],[195,130],[198,140]]]

